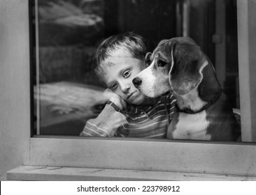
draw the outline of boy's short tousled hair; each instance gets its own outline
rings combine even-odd
[[[135,33],[127,32],[111,36],[101,42],[97,48],[92,69],[101,80],[101,77],[106,75],[104,68],[113,65],[110,61],[111,57],[131,57],[144,61],[146,53],[145,41]]]

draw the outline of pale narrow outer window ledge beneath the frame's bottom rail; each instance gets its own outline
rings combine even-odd
[[[90,169],[60,166],[19,166],[7,172],[8,180],[256,180],[256,177],[167,171]]]

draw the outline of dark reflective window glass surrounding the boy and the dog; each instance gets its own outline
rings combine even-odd
[[[143,36],[149,52],[160,40],[190,36],[240,109],[235,0],[36,0],[31,24],[34,134],[78,136],[101,113],[105,88],[91,69],[94,54],[127,31]]]

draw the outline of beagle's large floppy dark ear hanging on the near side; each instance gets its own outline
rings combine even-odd
[[[169,71],[171,90],[178,95],[185,95],[201,82],[201,49],[190,42],[176,40],[171,41],[169,49],[171,50]]]

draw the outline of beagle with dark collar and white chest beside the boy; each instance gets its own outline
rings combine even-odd
[[[168,139],[238,139],[241,129],[232,105],[220,88],[213,64],[194,40],[162,40],[146,61],[150,64],[133,79],[134,86],[152,98],[170,92],[176,97]]]

